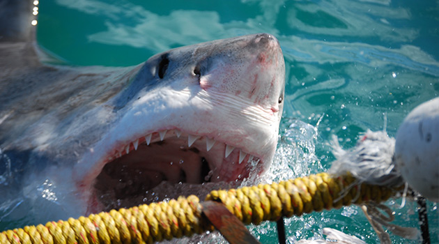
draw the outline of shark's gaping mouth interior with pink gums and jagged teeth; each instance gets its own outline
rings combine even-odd
[[[240,148],[206,136],[177,129],[153,132],[110,155],[93,184],[95,206],[88,211],[144,204],[145,196],[164,181],[192,185],[238,182],[250,171],[261,171],[257,167],[260,161]]]

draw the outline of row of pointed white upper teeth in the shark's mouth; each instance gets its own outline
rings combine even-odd
[[[158,135],[160,137],[160,141],[164,140],[164,137],[167,135],[168,130],[162,130],[160,132],[158,132]],[[180,138],[182,132],[180,130],[174,130],[175,135]],[[146,145],[150,145],[151,144],[151,139],[153,137],[153,133],[146,135],[145,138],[145,143]],[[200,139],[201,136],[199,135],[192,135],[192,134],[188,134],[187,135],[187,146],[192,146],[194,144],[194,142],[197,141],[197,139]],[[205,137],[206,138],[206,150],[210,151],[210,149],[213,148],[213,146],[215,145],[215,143],[217,141],[215,141],[215,139],[210,139],[209,137]],[[121,148],[120,151],[118,151],[116,153],[116,158],[120,158],[122,156],[122,154],[125,152],[126,154],[130,153],[130,145],[128,144],[128,146],[124,146],[123,148]],[[137,151],[137,148],[139,147],[139,139],[135,140],[134,142],[132,142],[132,146],[134,147],[134,150]],[[233,152],[233,150],[235,150],[234,146],[230,146],[226,144],[226,150],[224,151],[224,158],[228,158],[229,155]],[[247,153],[245,153],[244,151],[240,150],[239,151],[239,163],[241,163],[242,161],[244,161],[245,157],[247,157]],[[253,160],[253,156],[249,155],[249,162],[251,160]]]

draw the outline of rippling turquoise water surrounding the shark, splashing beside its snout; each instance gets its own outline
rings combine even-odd
[[[344,147],[368,128],[394,136],[411,109],[439,96],[437,1],[44,0],[38,22],[40,45],[81,66],[131,66],[173,47],[259,32],[279,39],[286,61],[282,136],[263,181],[325,171],[331,135]],[[396,224],[417,227],[416,204],[399,204],[387,202]],[[429,202],[432,243],[437,207]],[[291,218],[286,227],[288,243],[320,238],[323,227],[378,243],[356,206]],[[250,229],[277,243],[274,224]]]

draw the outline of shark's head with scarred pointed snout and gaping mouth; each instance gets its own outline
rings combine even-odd
[[[118,119],[75,169],[89,211],[108,206],[102,195],[130,199],[160,181],[236,181],[267,169],[283,96],[284,59],[268,34],[151,57],[111,101]]]

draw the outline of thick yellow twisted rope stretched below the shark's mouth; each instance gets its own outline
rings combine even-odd
[[[356,184],[351,175],[327,173],[295,178],[270,185],[214,190],[206,201],[220,201],[245,224],[279,220],[368,201],[385,201],[398,190]],[[47,222],[0,233],[1,244],[154,243],[213,230],[202,218],[198,197],[179,197],[169,202],[121,208],[77,220]]]

